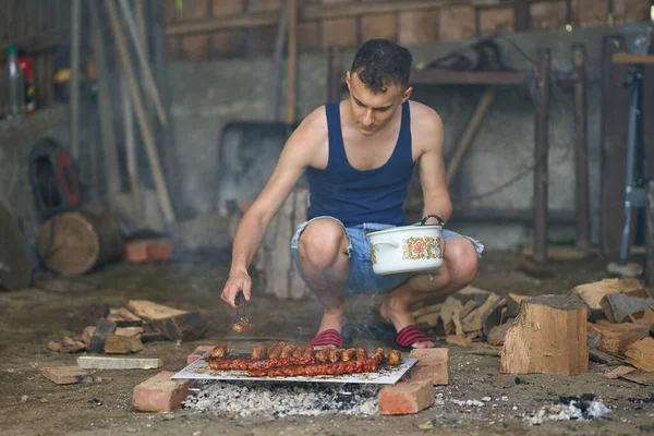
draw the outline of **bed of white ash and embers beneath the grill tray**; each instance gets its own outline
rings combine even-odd
[[[378,385],[294,384],[283,382],[198,382],[199,391],[182,407],[233,416],[322,414],[376,415]]]

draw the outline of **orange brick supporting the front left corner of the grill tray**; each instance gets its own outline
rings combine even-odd
[[[191,393],[189,388],[195,387],[195,380],[171,380],[174,373],[161,371],[154,377],[138,384],[134,388],[132,404],[142,412],[172,412],[179,410],[182,401]]]

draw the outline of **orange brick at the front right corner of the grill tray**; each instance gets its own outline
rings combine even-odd
[[[428,380],[399,382],[384,387],[377,399],[384,415],[417,413],[434,404],[434,386]]]

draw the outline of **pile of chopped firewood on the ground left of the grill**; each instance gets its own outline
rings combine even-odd
[[[187,312],[147,300],[131,300],[125,307],[90,304],[68,315],[72,332],[47,348],[62,353],[86,351],[130,354],[143,350],[144,342],[201,339],[209,325],[198,312]]]

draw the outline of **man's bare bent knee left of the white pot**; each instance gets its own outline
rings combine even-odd
[[[325,269],[346,257],[348,235],[332,219],[317,219],[306,226],[298,241],[298,249],[303,264]]]

